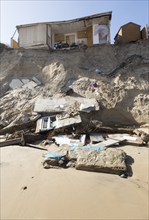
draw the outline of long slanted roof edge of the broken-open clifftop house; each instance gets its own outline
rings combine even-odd
[[[53,24],[53,25],[58,25],[58,24],[69,24],[69,23],[74,23],[74,22],[79,22],[79,21],[88,21],[90,19],[95,19],[95,18],[100,18],[100,17],[105,17],[108,16],[109,20],[112,18],[112,11],[109,12],[104,12],[100,14],[94,14],[90,16],[85,16],[81,18],[76,18],[76,19],[71,19],[71,20],[64,20],[64,21],[52,21],[52,22],[40,22],[40,23],[31,23],[31,24],[23,24],[23,25],[17,25],[16,28],[19,29],[21,27],[29,27],[29,26],[34,26],[38,24]]]

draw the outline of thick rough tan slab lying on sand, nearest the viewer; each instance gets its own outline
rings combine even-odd
[[[76,162],[77,170],[122,174],[126,172],[126,153],[121,149],[82,151]]]

